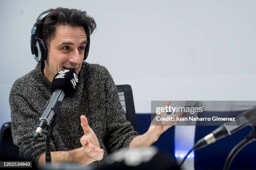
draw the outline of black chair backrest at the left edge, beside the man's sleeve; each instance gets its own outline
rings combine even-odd
[[[19,147],[13,144],[11,122],[3,124],[0,131],[0,160],[18,161]]]

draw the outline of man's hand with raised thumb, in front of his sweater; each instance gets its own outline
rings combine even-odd
[[[97,136],[90,128],[88,124],[87,118],[82,115],[81,119],[81,126],[84,130],[84,136],[81,137],[80,142],[82,144],[82,148],[87,155],[86,162],[93,162],[95,160],[102,160],[104,150],[100,149],[100,144],[98,141]]]

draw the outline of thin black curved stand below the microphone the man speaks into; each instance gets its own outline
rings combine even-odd
[[[46,136],[46,142],[45,142],[45,162],[46,164],[51,164],[51,151],[50,151],[50,142],[51,142],[51,135],[52,132],[54,130],[54,127],[56,126],[57,122],[59,120],[59,114],[58,111],[55,112],[52,120],[51,120],[51,124],[49,126],[48,132],[47,132],[47,136]]]

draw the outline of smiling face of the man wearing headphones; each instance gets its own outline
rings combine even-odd
[[[62,69],[74,68],[79,73],[87,43],[83,27],[58,25],[54,38],[50,41],[45,61],[44,75],[52,81]]]

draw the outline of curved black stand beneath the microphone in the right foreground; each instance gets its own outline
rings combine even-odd
[[[244,140],[242,140],[241,142],[239,142],[229,153],[226,161],[225,161],[225,165],[223,167],[223,170],[229,170],[230,165],[234,159],[234,157],[236,156],[236,154],[238,154],[238,152],[240,152],[243,147],[245,147],[246,145],[248,145],[249,143],[251,143],[253,140],[256,140],[256,126],[253,126],[253,131],[250,132],[250,134],[248,134],[246,136],[246,138]]]

